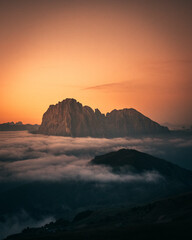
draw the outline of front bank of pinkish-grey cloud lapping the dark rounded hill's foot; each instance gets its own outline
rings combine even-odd
[[[156,172],[143,174],[116,175],[104,166],[90,166],[89,160],[78,159],[75,156],[47,155],[43,158],[22,160],[6,164],[6,173],[2,179],[9,180],[88,180],[99,182],[156,181],[161,176]]]

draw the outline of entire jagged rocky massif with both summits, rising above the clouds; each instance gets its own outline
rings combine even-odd
[[[43,115],[39,133],[71,137],[125,137],[166,133],[168,129],[135,109],[113,110],[106,116],[75,99],[50,105]]]

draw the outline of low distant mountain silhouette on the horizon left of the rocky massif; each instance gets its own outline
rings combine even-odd
[[[0,124],[0,131],[37,131],[38,124],[23,124],[22,122],[7,122]]]

